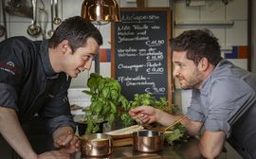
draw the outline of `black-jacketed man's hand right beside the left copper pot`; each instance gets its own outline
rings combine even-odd
[[[80,151],[80,139],[70,127],[58,128],[53,133],[54,147],[67,153]]]

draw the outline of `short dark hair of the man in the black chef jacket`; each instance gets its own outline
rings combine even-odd
[[[81,16],[74,16],[65,19],[64,22],[56,28],[53,36],[48,39],[49,47],[56,47],[58,44],[67,40],[72,51],[86,44],[88,38],[94,38],[101,45],[102,36],[99,29],[91,22],[86,21]]]

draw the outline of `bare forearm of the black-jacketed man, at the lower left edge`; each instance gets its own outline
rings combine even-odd
[[[14,110],[0,106],[0,133],[10,147],[24,159],[36,159],[37,154],[32,150],[25,132],[20,125]]]

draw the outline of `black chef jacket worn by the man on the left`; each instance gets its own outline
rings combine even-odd
[[[0,43],[0,106],[14,109],[21,122],[38,114],[50,132],[75,129],[67,98],[70,81],[53,71],[47,41],[12,37]]]

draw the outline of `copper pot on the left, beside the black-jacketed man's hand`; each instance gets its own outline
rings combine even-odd
[[[85,156],[101,157],[113,152],[112,137],[103,133],[82,135],[82,154]]]

